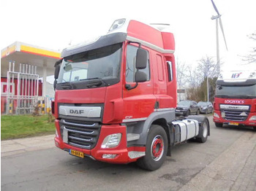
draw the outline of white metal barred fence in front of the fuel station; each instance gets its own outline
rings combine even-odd
[[[15,71],[15,62],[10,62],[7,82],[1,83],[1,114],[49,112],[52,98],[39,96],[37,66],[20,63],[19,68]]]

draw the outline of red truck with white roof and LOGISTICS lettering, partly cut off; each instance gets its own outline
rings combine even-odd
[[[217,79],[214,122],[256,130],[256,70],[227,71]]]

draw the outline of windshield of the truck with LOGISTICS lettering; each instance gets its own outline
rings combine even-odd
[[[219,98],[256,98],[256,85],[217,85],[216,96]]]

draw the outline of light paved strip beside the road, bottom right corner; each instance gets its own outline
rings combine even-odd
[[[256,133],[246,132],[235,141],[225,152],[222,152],[212,163],[203,168],[199,174],[192,178],[179,191],[187,190],[239,190],[241,185],[237,185],[240,175],[248,174],[244,168],[248,161],[255,160],[256,157]],[[256,163],[252,165],[251,174],[256,176]],[[250,174],[243,179],[248,179],[248,184],[243,184],[243,188],[256,190],[254,176]],[[252,179],[253,184],[250,184]]]

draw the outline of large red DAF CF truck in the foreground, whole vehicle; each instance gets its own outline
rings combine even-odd
[[[175,118],[174,50],[172,33],[127,19],[92,42],[64,49],[55,65],[56,147],[154,171],[174,145],[205,142],[206,117]]]

